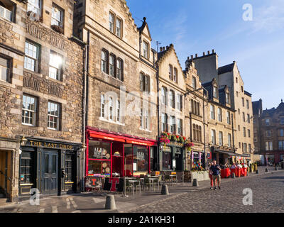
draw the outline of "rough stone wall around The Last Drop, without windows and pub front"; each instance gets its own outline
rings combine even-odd
[[[13,152],[13,183],[9,188],[11,193],[7,192],[13,200],[18,197],[19,148],[23,136],[82,143],[84,50],[72,40],[73,1],[40,1],[36,15],[28,11],[28,1],[3,0],[1,3],[13,12],[11,21],[0,17],[0,57],[9,60],[10,64],[9,78],[0,79],[0,115],[6,116],[0,119],[0,138],[6,145],[2,146],[4,142],[1,142],[0,147]],[[62,28],[50,26],[53,6],[62,12]],[[33,54],[28,55],[26,42],[37,47]],[[62,67],[58,70],[60,79],[49,76],[51,51],[62,57]],[[31,55],[35,59],[32,68],[24,63],[25,56]],[[35,98],[35,121],[32,124],[22,123],[23,95]],[[58,130],[48,128],[48,101],[60,106]],[[11,143],[16,145],[10,146]]]

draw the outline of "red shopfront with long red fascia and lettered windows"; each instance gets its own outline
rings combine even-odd
[[[87,129],[88,177],[130,177],[149,173],[155,140]]]

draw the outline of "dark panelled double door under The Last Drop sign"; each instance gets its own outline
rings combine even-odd
[[[54,151],[43,152],[42,193],[58,193],[58,153]]]

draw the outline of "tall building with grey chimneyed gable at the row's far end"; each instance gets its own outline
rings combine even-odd
[[[218,55],[212,50],[198,57],[191,57],[189,62],[195,62],[197,74],[202,83],[216,79],[219,88],[226,86],[229,89],[231,108],[236,110],[236,133],[234,133],[234,150],[239,153],[237,159],[253,161],[253,112],[251,94],[244,89],[244,81],[241,78],[236,62],[219,67]],[[218,93],[218,92],[215,92]]]

